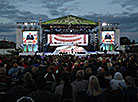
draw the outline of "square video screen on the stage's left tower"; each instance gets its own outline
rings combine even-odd
[[[37,44],[38,31],[23,31],[23,44]]]

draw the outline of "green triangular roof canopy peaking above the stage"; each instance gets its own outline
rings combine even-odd
[[[73,15],[68,15],[68,16],[64,16],[64,17],[60,17],[57,19],[53,19],[53,20],[49,20],[49,21],[45,21],[42,22],[42,24],[84,24],[84,25],[98,25],[97,22],[93,22],[91,20],[87,20],[84,18],[80,18],[77,16],[73,16]]]

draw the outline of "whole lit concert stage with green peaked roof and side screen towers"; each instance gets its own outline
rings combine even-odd
[[[35,52],[89,55],[97,51],[101,51],[99,54],[105,50],[115,51],[120,46],[120,30],[98,23],[72,15],[37,23],[19,22],[16,48],[22,49],[25,55],[35,55]]]

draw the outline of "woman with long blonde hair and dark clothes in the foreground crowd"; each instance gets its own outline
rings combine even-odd
[[[99,102],[104,96],[104,91],[100,87],[99,80],[96,76],[92,75],[89,78],[88,90],[85,102]]]

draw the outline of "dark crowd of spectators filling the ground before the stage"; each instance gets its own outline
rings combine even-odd
[[[0,102],[111,101],[138,101],[138,54],[0,56]]]

